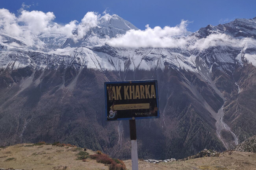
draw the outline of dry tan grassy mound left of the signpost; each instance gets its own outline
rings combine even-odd
[[[17,144],[0,148],[0,168],[13,167],[25,170],[108,170],[109,167],[96,160],[76,160],[82,148],[65,148],[52,145],[24,147],[28,144]],[[31,144],[30,144],[31,145]],[[43,147],[41,147],[43,146]],[[61,149],[61,151],[60,151]],[[95,152],[88,150],[89,154]],[[14,158],[5,161],[9,158]],[[65,168],[66,167],[66,168]]]

